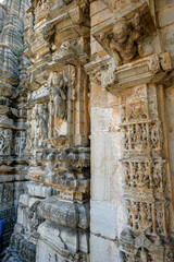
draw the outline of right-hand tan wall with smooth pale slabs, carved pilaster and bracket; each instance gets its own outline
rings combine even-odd
[[[173,130],[172,9],[170,1],[90,4],[91,59],[85,68],[91,82],[94,262],[174,259],[167,160],[173,152],[172,143],[167,148]],[[103,10],[112,13],[108,21]]]

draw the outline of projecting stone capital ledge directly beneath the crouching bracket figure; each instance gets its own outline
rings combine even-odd
[[[114,59],[104,57],[86,67],[92,82],[101,84],[112,94],[147,83],[162,83],[166,73],[172,71],[169,52],[150,55],[133,62],[116,67]]]

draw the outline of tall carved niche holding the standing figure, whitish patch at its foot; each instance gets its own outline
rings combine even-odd
[[[66,66],[63,72],[50,72],[49,88],[49,143],[62,146],[67,143],[72,118],[72,102],[75,100],[76,70]]]

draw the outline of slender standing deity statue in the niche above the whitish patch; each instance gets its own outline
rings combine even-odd
[[[51,136],[54,135],[57,121],[66,120],[66,79],[62,74],[51,72],[48,80],[50,94],[50,127],[52,127]]]

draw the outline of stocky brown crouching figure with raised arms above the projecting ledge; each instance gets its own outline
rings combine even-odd
[[[100,39],[109,46],[119,66],[130,62],[137,55],[142,56],[139,14],[135,14],[130,23],[124,17],[116,21],[113,33],[102,34]]]

